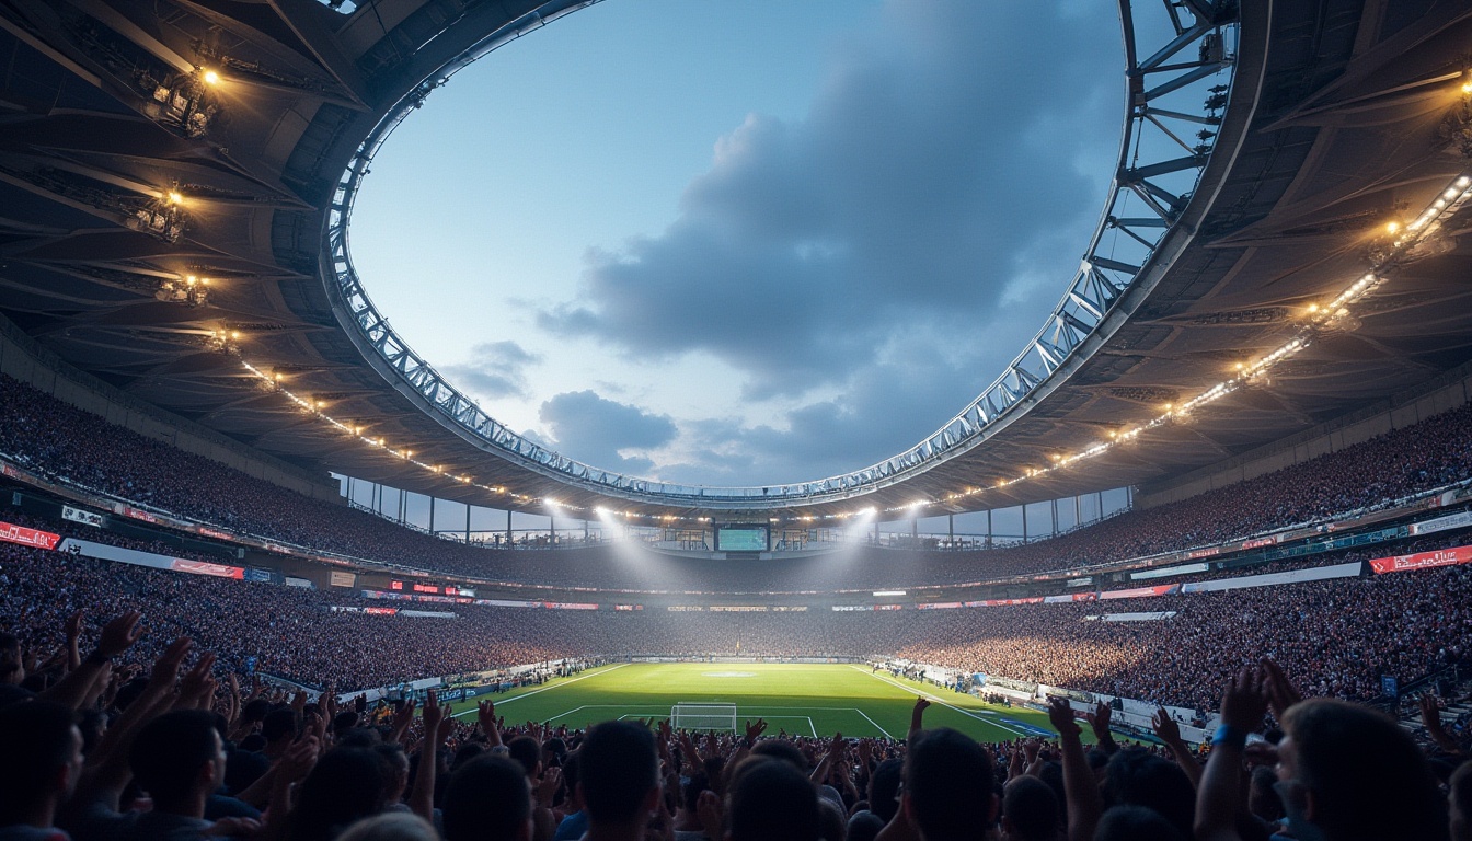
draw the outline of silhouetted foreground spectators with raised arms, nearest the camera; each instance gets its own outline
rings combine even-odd
[[[91,617],[87,617],[91,619]],[[1169,716],[1123,747],[1108,707],[1052,698],[1057,738],[979,744],[730,733],[668,722],[587,731],[315,701],[216,680],[215,652],[135,610],[72,645],[35,692],[0,639],[0,838],[47,841],[1468,841],[1466,741],[1425,753],[1393,719],[1309,697],[1272,658],[1220,691],[1203,754]],[[59,629],[65,636],[71,627]],[[85,655],[82,654],[85,651]],[[1213,670],[1219,672],[1219,670]],[[1309,689],[1312,694],[1312,689]],[[1085,744],[1086,732],[1092,738]]]

